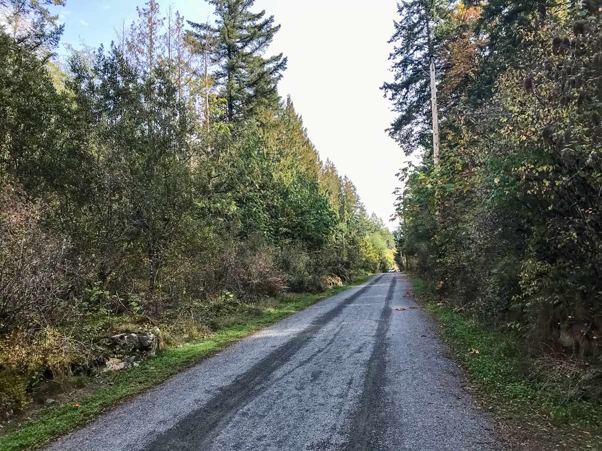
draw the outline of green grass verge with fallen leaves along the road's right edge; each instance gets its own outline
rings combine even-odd
[[[602,450],[602,406],[530,377],[533,355],[512,331],[492,330],[436,299],[413,277],[416,295],[439,322],[474,392],[524,450]]]

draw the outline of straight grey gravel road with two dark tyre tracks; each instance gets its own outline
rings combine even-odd
[[[315,304],[53,451],[501,450],[400,274]],[[405,307],[406,310],[395,310]]]

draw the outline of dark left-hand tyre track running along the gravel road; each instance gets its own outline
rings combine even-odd
[[[268,387],[263,384],[293,355],[306,346],[323,327],[341,314],[342,307],[351,304],[383,276],[372,280],[353,295],[318,316],[304,330],[284,345],[258,361],[244,375],[226,385],[202,408],[181,420],[176,426],[159,435],[145,451],[200,451],[210,449],[221,425],[228,423],[244,405],[260,396]],[[389,288],[390,290],[390,288]],[[390,299],[389,299],[390,301]],[[390,308],[389,308],[390,310]],[[380,326],[379,326],[380,328]]]

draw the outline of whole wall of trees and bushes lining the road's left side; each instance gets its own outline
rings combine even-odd
[[[123,321],[178,342],[391,265],[385,224],[278,96],[273,17],[212,3],[216,26],[187,30],[149,0],[63,72],[51,1],[0,0],[0,413],[98,370]]]

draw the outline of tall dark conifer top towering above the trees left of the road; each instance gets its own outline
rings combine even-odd
[[[252,0],[211,0],[216,7],[215,25],[189,22],[197,51],[206,42],[213,43],[213,63],[217,65],[216,84],[220,96],[226,99],[228,121],[241,120],[255,114],[259,108],[277,108],[276,85],[286,69],[287,58],[282,54],[264,58],[280,25],[265,11],[250,12]]]

